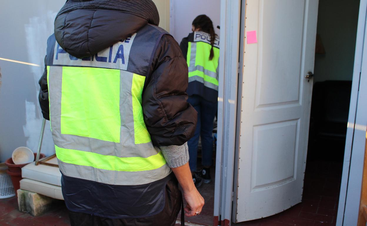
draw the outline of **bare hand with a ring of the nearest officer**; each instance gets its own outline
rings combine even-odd
[[[187,202],[186,207],[183,208],[185,210],[185,216],[195,216],[197,212],[201,212],[204,205],[204,198],[196,188],[190,192],[184,191],[183,197],[185,197]]]

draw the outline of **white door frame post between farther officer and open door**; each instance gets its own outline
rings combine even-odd
[[[236,147],[241,0],[221,0],[218,138],[214,190],[214,226],[229,226],[232,216]]]

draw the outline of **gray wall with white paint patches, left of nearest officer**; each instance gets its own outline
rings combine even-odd
[[[44,70],[48,36],[54,19],[65,1],[1,1],[0,58],[38,64],[0,60],[0,162],[12,151],[25,146],[37,151],[42,116],[38,103],[38,79]],[[49,122],[46,123],[42,153],[55,152]]]

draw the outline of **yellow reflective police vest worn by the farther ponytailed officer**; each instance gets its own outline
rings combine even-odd
[[[187,93],[199,95],[211,102],[218,100],[218,63],[219,38],[213,45],[214,57],[209,60],[210,34],[193,32],[188,36],[186,61],[189,67],[189,86]]]

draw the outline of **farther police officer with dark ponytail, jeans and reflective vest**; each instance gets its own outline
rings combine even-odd
[[[211,19],[206,15],[194,19],[192,31],[182,39],[180,47],[189,67],[188,102],[198,113],[195,134],[188,141],[188,147],[193,181],[199,187],[202,182],[211,182],[212,130],[218,106],[219,38]],[[202,147],[201,170],[196,167],[199,136]]]

